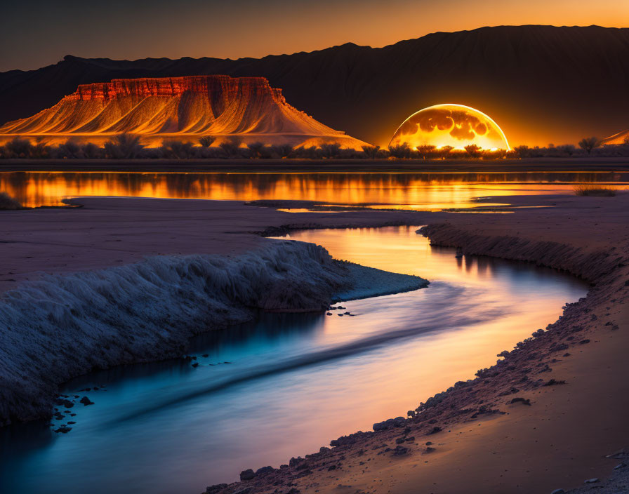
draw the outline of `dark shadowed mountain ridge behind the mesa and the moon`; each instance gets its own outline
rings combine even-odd
[[[207,74],[263,76],[291,105],[381,145],[406,116],[440,102],[481,109],[514,145],[602,138],[629,126],[629,29],[597,26],[482,27],[259,59],[67,55],[0,73],[0,124],[51,107],[79,84]]]

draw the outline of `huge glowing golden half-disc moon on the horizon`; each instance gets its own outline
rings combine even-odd
[[[421,109],[404,120],[389,146],[406,142],[411,148],[432,145],[463,148],[511,149],[498,124],[483,112],[465,105],[444,103]]]

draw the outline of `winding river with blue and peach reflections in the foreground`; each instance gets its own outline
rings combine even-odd
[[[415,229],[291,234],[431,284],[343,302],[354,317],[261,314],[202,335],[191,350],[197,368],[168,361],[74,380],[65,392],[95,404],[71,409],[71,432],[0,432],[0,492],[198,493],[242,469],[278,467],[473,378],[585,295],[583,283],[550,269],[456,259]],[[343,357],[332,358],[338,349]],[[79,392],[94,386],[105,390]]]

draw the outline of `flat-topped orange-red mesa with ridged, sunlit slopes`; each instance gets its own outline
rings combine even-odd
[[[365,144],[298,111],[264,77],[223,75],[83,84],[54,107],[0,127],[5,137],[58,141],[98,142],[119,133],[142,135],[150,145],[168,135],[180,140],[190,135],[194,142],[199,135],[241,135],[245,142],[249,137],[265,144],[339,142],[357,149]]]

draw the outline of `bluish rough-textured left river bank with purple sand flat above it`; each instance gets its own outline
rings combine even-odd
[[[198,234],[225,220],[225,204],[208,209],[196,201],[195,210],[188,201],[81,203],[86,213],[79,215],[2,213],[2,425],[51,417],[58,385],[70,378],[180,356],[193,334],[248,321],[258,309],[322,312],[339,298],[427,284],[335,261],[312,244],[230,234],[223,224],[214,232],[220,239]],[[260,209],[232,207],[234,228],[256,211],[264,217]],[[184,216],[192,223],[183,226]]]

